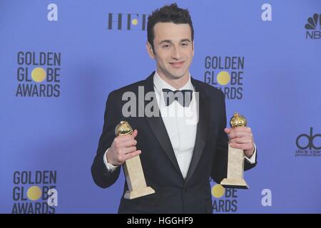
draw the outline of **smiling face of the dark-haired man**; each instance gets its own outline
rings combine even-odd
[[[147,43],[148,53],[155,58],[158,73],[170,80],[188,77],[194,56],[194,43],[188,24],[159,22],[154,26],[154,50]]]

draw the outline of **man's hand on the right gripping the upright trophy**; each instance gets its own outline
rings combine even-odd
[[[244,150],[245,156],[250,158],[254,152],[254,142],[251,128],[237,127],[225,128],[225,133],[228,134],[231,147]]]

